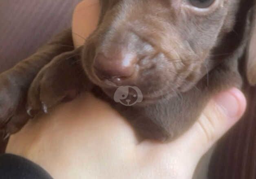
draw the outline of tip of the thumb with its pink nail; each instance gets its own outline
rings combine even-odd
[[[218,94],[214,100],[230,118],[240,117],[245,110],[245,97],[236,88]]]

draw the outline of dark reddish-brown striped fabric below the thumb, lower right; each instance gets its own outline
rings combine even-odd
[[[247,111],[212,157],[210,179],[256,179],[256,88],[246,87]]]

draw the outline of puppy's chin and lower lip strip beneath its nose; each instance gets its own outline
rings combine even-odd
[[[156,104],[162,100],[170,100],[171,98],[182,98],[183,93],[188,92],[190,89],[195,87],[198,81],[200,81],[200,79],[203,77],[203,73],[202,76],[199,76],[193,75],[193,73],[190,72],[186,75],[193,75],[194,78],[190,79],[190,81],[185,78],[186,76],[183,76],[183,78],[179,77],[176,81],[170,82],[168,79],[171,79],[171,73],[169,76],[165,77],[160,75],[152,75],[143,78],[143,76],[139,76],[137,78],[138,80],[121,81],[121,83],[116,84],[108,79],[99,79],[92,68],[88,68],[85,70],[85,72],[90,81],[100,87],[104,94],[106,94],[113,101],[115,101],[116,92],[118,92],[118,90],[122,87],[129,87],[132,89],[129,90],[128,94],[126,94],[128,95],[128,100],[131,102],[133,101],[133,95],[138,95],[138,93],[141,93],[140,98],[142,98],[142,100],[141,102],[136,103],[136,106]],[[199,73],[197,72],[194,74]]]

